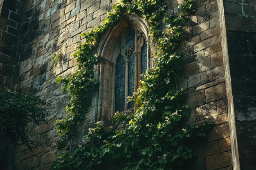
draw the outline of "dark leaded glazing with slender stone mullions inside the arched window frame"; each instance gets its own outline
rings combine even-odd
[[[147,70],[147,45],[142,34],[128,28],[120,43],[116,61],[115,112],[135,106],[134,102],[128,102],[127,97],[137,90],[140,75]]]

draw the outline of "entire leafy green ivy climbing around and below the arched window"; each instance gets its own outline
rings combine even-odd
[[[94,55],[101,35],[122,17],[123,12],[136,13],[148,22],[155,61],[141,80],[136,98],[136,112],[116,114],[109,129],[96,124],[83,137],[86,144],[74,146],[60,155],[53,170],[171,170],[181,166],[192,157],[188,144],[198,136],[206,136],[211,127],[186,124],[189,107],[184,104],[182,90],[177,89],[181,66],[179,43],[184,38],[184,27],[193,12],[193,0],[180,4],[180,13],[166,12],[166,0],[121,0],[113,5],[106,20],[97,28],[82,36],[74,56],[78,61],[77,71],[70,77],[59,78],[64,83],[64,92],[70,93],[71,103],[67,119],[57,121],[62,140],[71,126],[83,120],[92,90],[97,88],[93,78],[94,64],[99,57]],[[162,24],[161,24],[162,23]],[[123,128],[118,128],[123,122]]]

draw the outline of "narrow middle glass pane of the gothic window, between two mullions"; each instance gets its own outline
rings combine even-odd
[[[132,54],[129,58],[129,80],[128,80],[128,96],[132,96],[132,93],[134,92],[134,54]],[[134,107],[134,102],[128,102],[128,108]]]

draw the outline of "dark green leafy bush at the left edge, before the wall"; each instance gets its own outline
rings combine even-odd
[[[35,141],[29,139],[29,132],[35,126],[48,124],[45,106],[49,103],[32,93],[20,95],[4,88],[0,92],[0,132],[11,137],[16,146],[24,144],[31,150]]]

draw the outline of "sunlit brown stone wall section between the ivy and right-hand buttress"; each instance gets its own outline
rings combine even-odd
[[[190,122],[200,124],[209,119],[214,123],[207,140],[195,144],[198,159],[191,161],[191,169],[232,169],[219,23],[217,1],[198,2],[188,29],[190,40],[182,51],[185,65],[180,86],[186,89]]]

